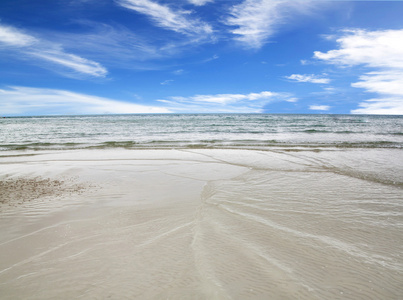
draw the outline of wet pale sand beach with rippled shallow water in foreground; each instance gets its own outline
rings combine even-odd
[[[401,299],[402,174],[400,149],[6,151],[1,298]]]

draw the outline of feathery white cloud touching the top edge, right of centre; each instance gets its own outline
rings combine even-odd
[[[231,8],[225,23],[236,27],[231,31],[236,40],[247,47],[260,48],[286,19],[295,13],[307,13],[312,7],[310,0],[245,0]]]

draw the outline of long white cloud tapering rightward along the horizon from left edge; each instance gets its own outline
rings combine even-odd
[[[169,113],[164,107],[138,105],[65,90],[29,87],[0,89],[3,115]]]

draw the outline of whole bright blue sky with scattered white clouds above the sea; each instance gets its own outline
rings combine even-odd
[[[403,1],[1,0],[0,116],[403,114]]]

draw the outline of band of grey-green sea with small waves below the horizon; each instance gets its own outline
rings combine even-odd
[[[402,148],[402,116],[101,115],[0,119],[0,151],[85,148]]]

